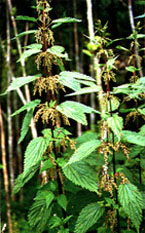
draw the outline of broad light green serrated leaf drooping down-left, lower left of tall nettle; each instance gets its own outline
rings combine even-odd
[[[39,163],[48,148],[48,138],[37,137],[30,141],[25,151],[24,171]]]

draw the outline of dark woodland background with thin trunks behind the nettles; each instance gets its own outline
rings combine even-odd
[[[10,17],[8,2],[10,0],[0,1],[0,93],[3,93],[8,84],[11,82],[9,71],[13,73],[15,77],[22,76],[22,67],[20,63],[16,61],[19,58],[16,40],[10,40],[10,51],[8,52],[8,40],[9,37],[13,38],[14,28]],[[142,15],[145,12],[144,5],[139,4],[139,0],[132,1],[133,14],[134,16]],[[12,15],[27,15],[30,17],[37,17],[37,13],[32,6],[35,6],[35,0],[12,0]],[[108,22],[108,33],[110,38],[125,38],[132,33],[130,25],[130,18],[128,13],[128,1],[127,0],[92,0],[93,4],[93,21],[98,19],[102,21],[102,25]],[[65,47],[69,54],[70,61],[65,62],[66,70],[80,71],[84,74],[90,75],[91,73],[91,59],[89,56],[83,53],[88,43],[88,21],[87,21],[87,6],[85,0],[53,0],[51,2],[52,11],[50,17],[52,19],[62,18],[65,16],[75,17],[81,19],[79,23],[63,24],[60,27],[54,28],[55,44],[59,44]],[[145,33],[145,20],[141,21],[141,32]],[[35,29],[37,25],[32,22],[16,21],[17,31],[21,33],[25,30]],[[135,20],[137,23],[137,20]],[[26,35],[20,39],[21,49],[23,47],[35,43],[33,36]],[[129,47],[129,41],[124,40],[122,46]],[[145,40],[140,41],[142,47],[144,47]],[[115,50],[114,44],[114,50]],[[10,55],[10,56],[9,56]],[[8,57],[9,56],[9,57]],[[10,60],[9,60],[10,59]],[[25,63],[26,72],[31,75],[36,73],[36,65],[34,62],[34,56],[29,58],[29,61]],[[143,57],[144,59],[144,57]],[[117,84],[119,85],[124,82],[129,82],[130,74],[125,70],[128,58],[124,52],[119,55],[119,60],[116,61],[118,67],[118,79]],[[144,60],[143,60],[144,64]],[[9,69],[10,68],[10,69]],[[57,70],[56,70],[57,71]],[[30,93],[33,99],[31,85],[29,86]],[[22,92],[25,95],[24,90]],[[60,96],[61,100],[65,100],[64,96]],[[75,100],[75,98],[73,98]],[[90,105],[89,96],[83,96],[81,99],[82,103]],[[34,176],[33,179],[28,182],[23,190],[16,196],[12,195],[14,188],[14,180],[18,174],[23,170],[23,156],[28,141],[32,138],[31,133],[27,135],[26,139],[18,145],[17,142],[20,136],[20,127],[23,120],[23,114],[18,115],[15,118],[11,118],[10,114],[21,107],[21,101],[15,92],[11,92],[9,95],[0,96],[0,105],[2,109],[3,125],[5,132],[5,151],[6,151],[6,162],[7,162],[7,175],[9,180],[9,198],[11,203],[11,217],[13,221],[14,233],[27,233],[29,226],[27,223],[27,212],[32,204],[35,191],[39,185],[40,177]],[[82,131],[90,130],[90,119],[88,117],[88,126],[83,126]],[[134,123],[130,123],[130,127],[134,127]],[[41,129],[41,124],[38,125]],[[77,126],[74,122],[71,123],[69,130],[73,133],[73,137],[78,136],[80,132],[77,131]],[[2,144],[2,139],[1,139]],[[0,154],[2,149],[0,148]],[[0,156],[0,221],[1,227],[7,222],[7,208],[5,202],[5,188],[3,182],[3,165]],[[7,232],[7,231],[6,231]]]

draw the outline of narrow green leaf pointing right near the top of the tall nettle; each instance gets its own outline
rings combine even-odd
[[[62,25],[63,23],[79,23],[79,22],[81,22],[81,20],[76,18],[71,18],[71,17],[59,18],[52,21],[53,24],[52,28],[56,28]]]

